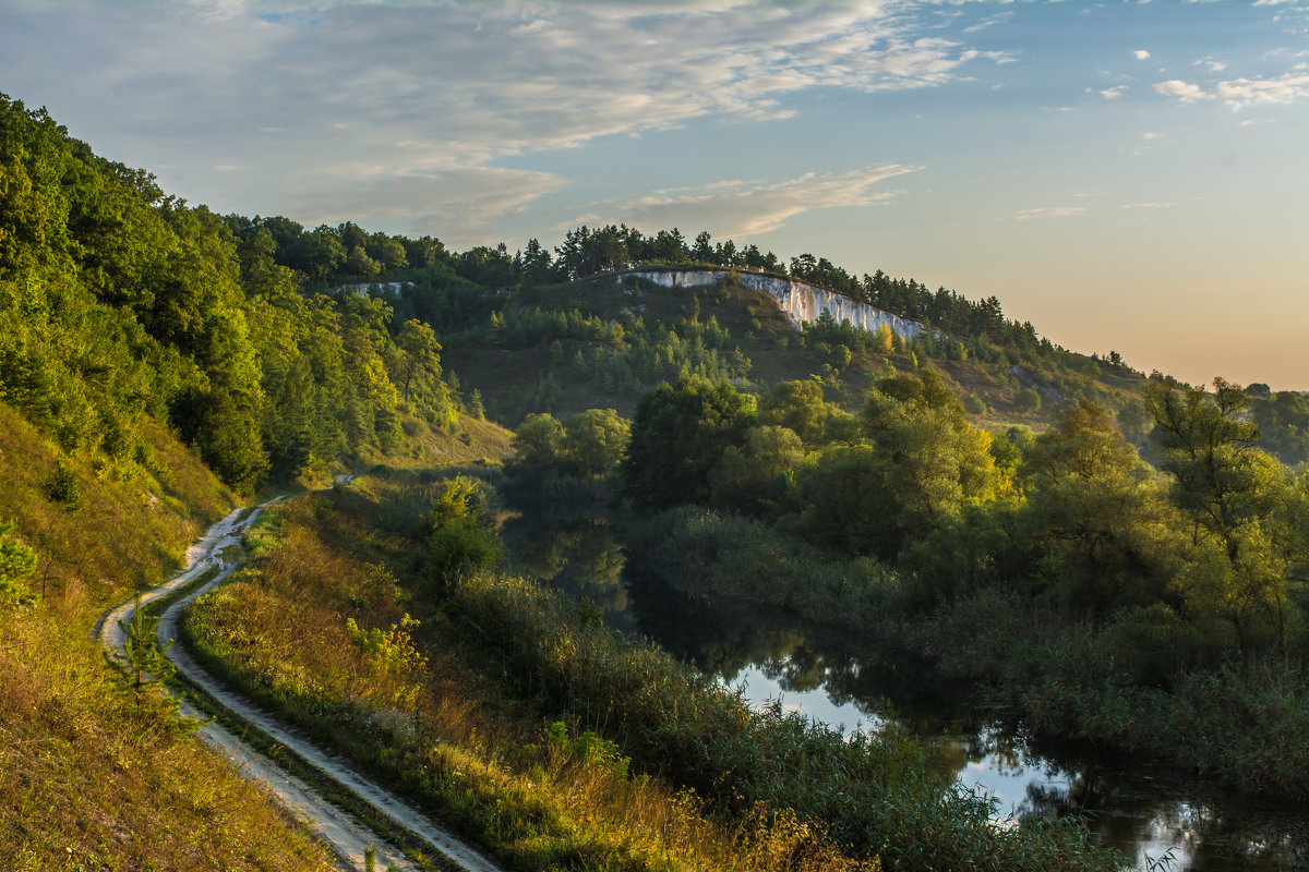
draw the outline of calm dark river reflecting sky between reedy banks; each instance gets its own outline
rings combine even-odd
[[[1076,812],[1143,869],[1162,858],[1170,863],[1160,868],[1177,872],[1309,869],[1309,807],[1261,801],[1136,761],[1035,748],[967,706],[961,689],[927,685],[920,669],[880,656],[870,639],[692,601],[628,561],[605,519],[543,524],[543,514],[505,524],[521,571],[590,599],[613,629],[657,642],[755,705],[776,699],[846,732],[888,718],[908,724],[935,766],[992,799],[1000,825]]]

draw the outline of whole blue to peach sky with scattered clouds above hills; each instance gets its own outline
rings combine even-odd
[[[1309,0],[0,0],[0,92],[220,213],[708,230],[1309,390]]]

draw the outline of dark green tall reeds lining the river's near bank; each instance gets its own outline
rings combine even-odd
[[[1107,869],[1122,860],[1071,824],[999,830],[991,807],[929,775],[923,749],[897,728],[847,740],[779,707],[751,711],[521,579],[467,579],[446,608],[476,628],[487,668],[513,676],[518,696],[610,736],[643,771],[694,788],[721,813],[793,809],[895,868]]]

